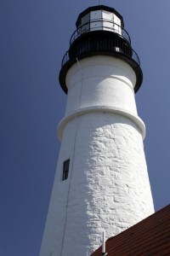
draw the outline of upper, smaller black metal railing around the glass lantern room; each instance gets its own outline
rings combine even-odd
[[[125,38],[127,42],[131,44],[131,39],[127,31],[122,26],[117,25],[111,20],[91,20],[90,22],[79,26],[77,30],[73,32],[70,44],[72,44],[82,34],[94,31],[114,32],[122,38]]]

